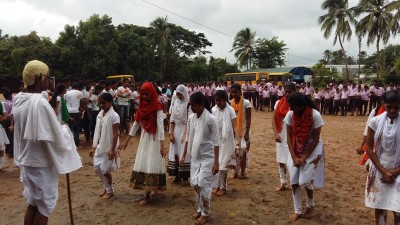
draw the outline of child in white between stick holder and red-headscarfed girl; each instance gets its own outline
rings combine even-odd
[[[108,199],[114,195],[111,171],[120,166],[117,150],[120,117],[113,109],[113,97],[110,93],[101,94],[98,100],[101,111],[97,115],[90,157],[93,158],[94,170],[104,185],[104,191],[99,196]]]

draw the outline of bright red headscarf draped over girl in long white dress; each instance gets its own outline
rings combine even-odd
[[[143,83],[141,93],[146,92],[149,100],[143,100],[142,94],[139,96],[139,108],[135,113],[135,121],[140,123],[142,128],[148,133],[155,134],[157,131],[157,111],[163,110],[154,85],[150,82]]]

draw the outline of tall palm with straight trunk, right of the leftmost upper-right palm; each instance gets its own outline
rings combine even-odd
[[[380,72],[380,42],[386,44],[391,32],[396,33],[398,22],[390,26],[393,21],[391,8],[393,6],[385,0],[361,0],[355,7],[356,15],[365,14],[357,23],[356,32],[362,36],[367,35],[367,45],[376,41],[376,78],[379,80]]]

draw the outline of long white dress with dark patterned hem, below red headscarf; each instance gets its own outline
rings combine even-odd
[[[139,129],[135,121],[129,132],[134,136]],[[141,130],[139,146],[131,176],[131,186],[145,191],[165,190],[165,162],[160,153],[160,140],[164,140],[164,113],[157,111],[157,131],[150,134]]]

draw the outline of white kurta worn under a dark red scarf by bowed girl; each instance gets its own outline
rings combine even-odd
[[[293,111],[289,111],[285,117],[285,123],[289,126],[292,126],[292,116]],[[310,138],[308,140],[308,145],[313,141],[314,130],[322,127],[324,125],[324,121],[322,119],[321,114],[313,109],[313,127],[310,133]],[[312,163],[314,159],[317,157],[321,157],[317,166]],[[309,185],[311,181],[313,181],[314,188],[323,188],[325,185],[325,154],[324,148],[322,144],[321,137],[319,138],[318,144],[315,147],[314,151],[310,156],[306,159],[306,165],[298,168],[293,164],[293,159],[291,155],[288,155],[288,170],[290,174],[290,183],[299,184],[300,186]]]

